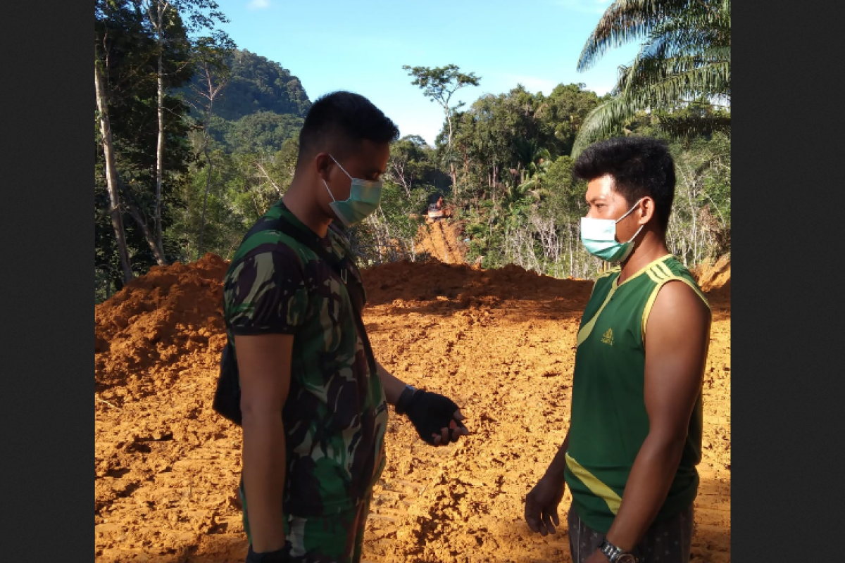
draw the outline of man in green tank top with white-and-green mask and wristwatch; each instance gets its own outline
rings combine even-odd
[[[526,497],[526,522],[554,533],[569,485],[575,563],[686,563],[711,312],[666,245],[674,163],[656,139],[613,138],[574,172],[587,181],[581,240],[619,265],[581,318],[570,430]]]

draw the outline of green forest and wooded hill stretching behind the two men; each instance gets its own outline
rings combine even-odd
[[[200,3],[206,10],[212,4]],[[463,225],[468,262],[483,268],[515,263],[559,278],[595,275],[602,262],[587,254],[580,241],[586,185],[573,179],[572,169],[576,143],[605,127],[595,128],[597,116],[612,118],[615,133],[670,141],[679,178],[668,230],[670,249],[689,264],[728,252],[729,111],[710,103],[707,92],[673,101],[673,86],[668,83],[661,86],[662,94],[654,94],[657,86],[637,74],[648,70],[665,78],[671,57],[679,57],[673,73],[697,72],[702,68],[695,67],[697,63],[684,70],[684,49],[690,44],[704,49],[712,40],[709,49],[717,39],[722,41],[717,32],[721,33],[718,26],[723,20],[706,19],[695,11],[698,8],[684,14],[681,8],[687,4],[680,0],[613,4],[614,18],[625,23],[619,28],[613,18],[602,19],[591,38],[594,46],[585,49],[584,65],[619,41],[646,37],[647,44],[637,62],[623,69],[613,95],[597,96],[584,84],[559,84],[549,95],[532,94],[516,84],[506,93],[482,95],[462,107],[453,105],[451,98],[457,89],[478,84],[473,73],[461,73],[455,65],[404,67],[414,78],[412,84],[444,107],[444,122],[433,147],[416,135],[391,145],[379,208],[349,230],[362,263],[427,259],[415,240],[428,203],[442,196],[455,214],[444,220],[460,220]],[[701,5],[711,4],[706,0]],[[155,202],[158,44],[138,5],[131,0],[100,0],[95,3],[95,30],[111,93],[129,254],[135,273],[144,273],[155,263],[143,225],[150,224]],[[725,5],[729,32],[729,3]],[[662,8],[652,14],[653,6]],[[677,8],[671,14],[670,6]],[[638,9],[648,17],[637,20]],[[703,22],[700,31],[690,32],[693,21]],[[163,52],[164,246],[169,260],[180,261],[198,258],[200,241],[202,252],[231,257],[246,230],[281,198],[294,175],[298,132],[311,104],[289,71],[234,49],[225,35],[194,34],[188,41],[187,30],[194,24],[193,19],[183,23],[178,12],[168,15],[167,33],[178,41],[166,43]],[[711,33],[710,39],[706,33]],[[727,37],[729,46],[729,33]],[[722,51],[713,47],[711,52]],[[729,85],[729,68],[726,76]],[[209,77],[221,87],[213,104],[201,89],[208,91]],[[631,94],[643,88],[657,97]],[[729,88],[727,95],[729,99]],[[632,100],[649,101],[651,111],[642,111],[645,106]],[[95,127],[96,301],[122,287],[99,134]],[[447,195],[450,185],[453,189]]]

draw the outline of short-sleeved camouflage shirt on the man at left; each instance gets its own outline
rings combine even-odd
[[[262,222],[279,217],[335,257],[352,258],[339,229],[332,225],[319,239],[280,200],[244,238],[226,272],[226,346],[237,358],[236,334],[294,335],[291,387],[282,410],[283,508],[287,514],[319,516],[356,506],[379,478],[387,403],[344,280],[308,245],[279,230],[263,230]],[[350,263],[349,272],[360,281]]]

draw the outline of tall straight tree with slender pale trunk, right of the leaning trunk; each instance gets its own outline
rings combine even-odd
[[[158,138],[155,151],[155,246],[161,256],[159,263],[166,263],[161,226],[161,184],[164,179],[164,111],[165,111],[165,50],[166,44],[172,42],[187,42],[183,28],[182,14],[188,16],[187,30],[197,32],[212,29],[215,20],[226,23],[228,19],[222,14],[214,0],[141,0],[144,12],[150,20],[154,31],[157,50],[157,94],[156,109],[158,111]]]

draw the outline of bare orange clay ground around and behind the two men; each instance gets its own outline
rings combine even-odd
[[[95,307],[97,561],[246,555],[235,494],[241,431],[210,408],[225,342],[225,270],[212,255],[152,268]],[[387,264],[364,279],[364,321],[379,360],[455,399],[472,435],[428,447],[391,417],[363,560],[570,561],[565,525],[542,538],[522,512],[564,439],[591,282],[437,262]],[[729,281],[710,298],[693,560],[719,562],[730,560]],[[567,491],[562,508],[569,503]]]

